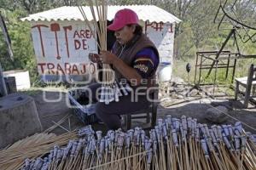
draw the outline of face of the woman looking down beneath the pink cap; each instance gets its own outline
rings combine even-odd
[[[114,36],[116,41],[124,45],[126,42],[129,42],[134,36],[133,32],[135,31],[135,26],[124,26],[118,31],[114,31]]]

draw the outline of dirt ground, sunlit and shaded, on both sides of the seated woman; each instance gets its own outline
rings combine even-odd
[[[160,88],[160,104],[158,106],[157,117],[164,118],[166,115],[180,118],[181,116],[191,116],[196,118],[198,122],[207,123],[209,125],[216,124],[209,122],[206,117],[206,111],[212,106],[223,105],[228,109],[228,114],[235,119],[246,123],[253,127],[243,126],[247,131],[256,133],[256,107],[249,105],[249,108],[243,109],[241,100],[234,100],[234,96],[227,94],[225,88],[215,88],[214,99],[209,97],[212,93],[212,88],[207,88],[205,91],[197,90],[186,84]],[[30,95],[34,98],[38,108],[38,114],[42,126],[45,129],[55,125],[63,117],[71,115],[69,119],[61,123],[61,126],[56,127],[52,132],[56,134],[73,131],[84,124],[79,118],[73,115],[73,109],[67,106],[67,96],[65,93],[59,93],[58,89],[51,91],[36,90]],[[48,99],[49,101],[45,101]],[[234,118],[228,117],[222,124],[234,124],[237,122]],[[145,123],[145,120],[133,120],[132,127],[150,127]],[[93,127],[96,130],[106,132],[104,125],[95,123]]]

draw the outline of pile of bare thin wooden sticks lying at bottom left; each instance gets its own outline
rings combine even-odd
[[[53,127],[48,130],[50,131]],[[35,133],[26,139],[21,139],[8,148],[0,150],[0,169],[18,170],[23,167],[27,157],[34,159],[44,156],[55,144],[66,145],[70,139],[77,139],[77,133],[63,133],[59,136],[47,132]]]

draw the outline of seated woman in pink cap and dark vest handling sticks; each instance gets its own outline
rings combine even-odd
[[[108,105],[98,102],[96,116],[109,129],[118,129],[121,127],[120,115],[148,108],[147,93],[150,92],[147,89],[154,83],[159,54],[154,43],[143,34],[137,14],[131,9],[119,10],[108,30],[114,31],[116,42],[111,52],[101,51],[100,60],[112,65],[116,80],[122,84],[128,83],[133,91],[121,96],[118,102],[113,101]],[[99,84],[90,86],[94,99],[96,88],[99,87]]]

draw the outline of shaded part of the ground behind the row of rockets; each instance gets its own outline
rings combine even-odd
[[[38,115],[42,126],[45,129],[53,126],[55,122],[59,122],[63,117],[67,115],[72,115],[69,120],[66,120],[61,124],[61,127],[56,127],[52,132],[56,134],[61,134],[69,131],[83,127],[84,124],[73,115],[73,109],[67,106],[66,94],[64,92],[56,91],[43,91],[35,90],[26,92],[33,97],[38,108]],[[203,101],[203,102],[202,102]],[[193,101],[185,101],[178,105],[172,105],[169,107],[164,107],[162,105],[158,106],[158,118],[165,118],[166,115],[172,115],[172,117],[180,118],[181,116],[191,116],[196,118],[200,123],[207,123],[209,125],[216,124],[207,121],[206,111],[212,106],[224,105],[228,108],[230,116],[235,117],[241,122],[247,123],[249,126],[256,128],[256,108],[250,105],[249,109],[242,109],[240,101],[235,101],[233,99],[223,99],[223,100],[211,100],[209,99],[193,99]],[[228,118],[226,122],[222,124],[234,124],[237,122],[232,118]],[[95,130],[102,130],[103,133],[107,132],[107,128],[102,125],[95,123],[92,125]],[[145,120],[133,120],[131,127],[148,127]],[[243,126],[247,131],[256,133],[252,128]],[[67,129],[67,130],[65,130]]]

